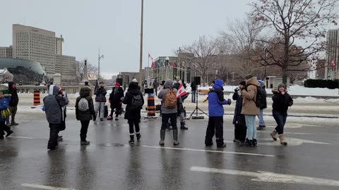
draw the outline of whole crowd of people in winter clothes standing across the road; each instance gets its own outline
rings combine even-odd
[[[225,147],[226,144],[223,138],[223,115],[225,113],[223,106],[231,105],[230,99],[225,100],[223,92],[224,82],[220,79],[213,81],[213,88],[208,92],[208,126],[206,129],[206,146],[213,146],[213,137],[218,148]],[[159,83],[155,81],[153,88],[158,89]],[[180,121],[180,129],[187,130],[186,127],[186,110],[184,108],[184,101],[189,94],[179,94],[181,88],[186,89],[184,80],[176,77],[174,80],[165,80],[162,82],[162,89],[155,95],[161,100],[160,115],[162,117],[162,125],[160,128],[160,146],[165,145],[165,132],[172,130],[173,144],[179,144],[177,118]],[[47,122],[49,123],[49,141],[47,148],[54,150],[58,146],[58,142],[62,141],[59,132],[66,128],[66,107],[69,104],[67,94],[64,93],[61,87],[49,84],[49,95],[44,97],[43,110],[46,114]],[[196,103],[196,89],[195,82],[191,83],[191,103]],[[95,95],[93,100],[92,96]],[[105,84],[100,82],[97,88],[90,87],[88,82],[81,87],[79,96],[76,99],[76,120],[81,122],[80,129],[80,143],[81,145],[88,145],[87,132],[90,120],[100,121],[107,117],[107,120],[113,119],[115,112],[115,120],[119,120],[119,115],[124,114],[124,119],[129,124],[129,143],[133,144],[136,140],[141,139],[141,109],[145,103],[141,87],[138,85],[137,80],[132,80],[129,87],[124,94],[124,89],[121,84],[117,82],[112,88],[112,93],[109,94],[109,104],[111,113],[108,115],[107,106],[105,103],[107,90]],[[239,83],[239,87],[234,89],[232,99],[235,102],[234,109],[234,142],[240,146],[258,146],[257,129],[266,129],[263,120],[263,110],[267,108],[266,102],[266,89],[261,80],[256,77],[248,75],[245,80]],[[279,84],[278,89],[273,91],[273,118],[277,122],[277,127],[270,133],[274,141],[280,139],[280,144],[287,145],[284,134],[284,126],[287,120],[287,110],[292,106],[292,97],[287,93],[284,84]],[[15,122],[16,110],[18,106],[18,94],[16,92],[16,84],[13,82],[8,83],[8,90],[0,91],[0,139],[4,139],[11,135],[11,125],[18,125]],[[122,108],[122,104],[126,105],[126,109]],[[259,125],[256,127],[256,117],[259,119]],[[11,118],[11,121],[9,120]],[[277,138],[278,137],[278,138]]]

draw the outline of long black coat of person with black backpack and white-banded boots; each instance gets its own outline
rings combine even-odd
[[[139,89],[131,89],[126,92],[126,96],[123,101],[124,104],[127,104],[125,120],[140,120],[141,119],[141,109],[131,110],[131,103],[132,103],[133,96],[137,96],[138,94],[141,96],[141,99],[143,100],[143,104],[144,104],[145,101],[143,99],[143,94],[141,93]]]

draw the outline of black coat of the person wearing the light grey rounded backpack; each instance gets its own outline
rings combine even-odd
[[[88,101],[88,110],[81,111],[78,109],[79,101],[85,98]],[[90,96],[90,89],[83,87],[80,89],[80,96],[76,99],[76,120],[88,121],[95,118],[95,110],[93,105],[93,99]]]

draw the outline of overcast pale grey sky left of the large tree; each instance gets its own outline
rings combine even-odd
[[[172,56],[200,35],[216,36],[227,18],[242,18],[249,0],[144,0],[143,65]],[[63,35],[63,54],[97,64],[98,47],[105,55],[101,71],[110,77],[137,71],[141,0],[11,0],[0,7],[0,46],[12,44],[12,24],[52,30]]]

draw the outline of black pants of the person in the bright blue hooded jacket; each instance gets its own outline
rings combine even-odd
[[[205,144],[212,144],[212,138],[215,134],[215,139],[217,141],[217,146],[222,146],[224,144],[224,119],[221,117],[210,117],[208,118],[208,126],[206,129]]]

